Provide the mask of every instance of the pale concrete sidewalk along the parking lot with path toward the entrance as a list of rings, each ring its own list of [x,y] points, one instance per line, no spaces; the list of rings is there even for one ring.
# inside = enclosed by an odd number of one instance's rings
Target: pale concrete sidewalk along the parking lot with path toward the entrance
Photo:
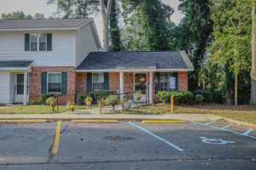
[[[99,108],[86,109],[75,112],[56,114],[1,114],[0,119],[118,119],[118,120],[183,120],[183,121],[214,121],[223,118],[211,114],[165,114],[165,115],[130,115],[130,114],[106,114],[111,108],[103,108],[100,114]]]

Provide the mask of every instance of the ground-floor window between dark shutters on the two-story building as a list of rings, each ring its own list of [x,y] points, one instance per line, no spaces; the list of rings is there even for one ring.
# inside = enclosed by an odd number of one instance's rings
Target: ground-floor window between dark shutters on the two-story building
[[[61,93],[61,73],[48,74],[48,93]]]

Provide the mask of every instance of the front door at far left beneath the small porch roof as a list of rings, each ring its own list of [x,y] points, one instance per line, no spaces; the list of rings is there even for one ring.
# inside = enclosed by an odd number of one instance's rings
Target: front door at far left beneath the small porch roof
[[[27,93],[28,93],[28,89],[27,89]],[[15,103],[23,102],[23,94],[24,94],[24,74],[16,74]],[[26,99],[28,102],[28,96]]]

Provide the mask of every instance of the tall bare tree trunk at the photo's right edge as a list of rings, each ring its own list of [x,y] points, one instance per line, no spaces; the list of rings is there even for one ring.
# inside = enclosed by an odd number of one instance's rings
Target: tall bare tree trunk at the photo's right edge
[[[256,4],[253,3],[252,10],[252,18],[253,18],[253,26],[252,26],[252,71],[251,71],[251,80],[252,80],[252,88],[251,88],[251,105],[256,105]]]

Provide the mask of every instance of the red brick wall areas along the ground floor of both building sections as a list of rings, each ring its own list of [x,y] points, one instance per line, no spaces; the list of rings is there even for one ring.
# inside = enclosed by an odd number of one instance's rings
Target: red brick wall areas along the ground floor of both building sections
[[[87,92],[87,74],[75,72],[74,67],[33,67],[32,72],[29,74],[29,96],[31,99],[38,99],[42,96],[41,94],[41,72],[63,72],[67,71],[67,96],[60,98],[61,104],[67,103],[67,101],[75,101],[74,94],[85,94]],[[149,73],[147,73],[149,77]],[[155,79],[155,73],[153,73]],[[134,88],[134,73],[124,73],[124,89],[125,93],[133,92]],[[187,91],[188,90],[188,72],[178,72],[178,89]],[[117,91],[119,93],[119,72],[109,73],[109,90]],[[149,89],[149,82],[148,82]],[[128,94],[129,98],[132,99],[132,93]],[[149,96],[149,90],[148,90]],[[155,83],[153,86],[153,97],[155,99]],[[149,101],[149,99],[148,99]]]

